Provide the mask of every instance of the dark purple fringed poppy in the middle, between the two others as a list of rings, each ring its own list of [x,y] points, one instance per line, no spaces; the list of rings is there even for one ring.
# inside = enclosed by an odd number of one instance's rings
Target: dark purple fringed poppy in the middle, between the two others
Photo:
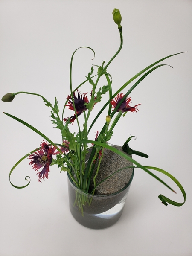
[[[80,93],[77,90],[77,94],[78,94],[78,96],[76,97],[76,94],[73,92],[73,99],[74,99],[77,116],[80,116],[83,113],[83,111],[87,110],[84,103],[89,103],[89,101],[87,99],[87,93],[83,93],[80,96]],[[72,99],[71,96],[68,96],[67,99],[69,100],[68,104],[66,104],[67,108],[74,110],[73,101],[71,100]],[[70,122],[73,123],[76,119],[76,115],[74,114],[74,116],[64,118],[64,122],[67,122],[68,119],[70,119]]]

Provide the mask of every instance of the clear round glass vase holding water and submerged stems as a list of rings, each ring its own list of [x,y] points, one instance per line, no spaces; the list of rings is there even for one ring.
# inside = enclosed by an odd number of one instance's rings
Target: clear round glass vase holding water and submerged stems
[[[73,217],[84,227],[103,229],[112,226],[122,215],[134,170],[128,184],[111,195],[91,195],[81,191],[68,175],[69,205]]]

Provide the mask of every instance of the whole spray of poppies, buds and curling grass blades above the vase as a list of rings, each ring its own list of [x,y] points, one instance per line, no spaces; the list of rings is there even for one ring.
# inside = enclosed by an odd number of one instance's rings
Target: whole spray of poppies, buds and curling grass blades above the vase
[[[162,201],[162,203],[165,205],[169,203],[175,206],[181,206],[186,201],[186,193],[183,187],[181,186],[181,184],[179,183],[179,181],[175,177],[173,177],[171,174],[164,171],[163,169],[160,169],[157,167],[151,167],[151,166],[143,166],[130,156],[130,155],[136,154],[141,157],[148,158],[148,155],[142,152],[133,150],[129,147],[128,143],[134,136],[130,136],[125,141],[124,145],[122,146],[122,150],[124,152],[119,151],[118,149],[108,145],[108,142],[110,141],[111,136],[113,135],[113,129],[115,128],[119,119],[122,116],[125,117],[125,115],[128,112],[136,113],[139,109],[140,104],[132,105],[131,97],[129,97],[130,93],[134,90],[134,88],[152,71],[156,70],[161,66],[166,65],[166,64],[159,64],[161,61],[165,60],[166,58],[170,58],[174,55],[180,54],[182,52],[169,55],[165,58],[160,59],[159,61],[156,61],[155,63],[151,64],[150,66],[146,67],[145,69],[137,73],[134,77],[132,77],[124,85],[122,85],[122,87],[120,87],[119,90],[113,93],[112,92],[112,76],[107,72],[107,68],[111,64],[113,59],[119,54],[123,44],[122,26],[121,26],[122,17],[118,9],[113,10],[113,20],[118,25],[118,30],[120,35],[120,47],[118,51],[115,53],[115,55],[113,55],[113,57],[111,58],[110,61],[108,61],[107,64],[105,63],[105,61],[103,61],[102,65],[100,66],[93,65],[94,68],[96,67],[97,73],[94,74],[94,69],[92,66],[90,72],[86,76],[86,80],[84,80],[81,84],[79,84],[78,87],[74,89],[72,87],[72,63],[73,63],[74,54],[80,48],[90,49],[93,52],[94,56],[95,56],[95,52],[90,47],[80,47],[76,49],[75,52],[73,52],[73,55],[71,57],[71,62],[70,62],[70,95],[67,96],[67,100],[64,104],[64,108],[61,116],[59,115],[60,113],[59,113],[58,101],[56,97],[55,97],[55,102],[52,105],[49,101],[47,101],[47,99],[45,99],[43,96],[37,93],[29,93],[29,92],[21,91],[17,93],[7,93],[5,96],[3,96],[2,101],[4,102],[12,102],[15,96],[20,93],[26,93],[26,94],[31,94],[31,95],[41,97],[45,105],[51,109],[50,112],[51,112],[52,124],[55,125],[55,128],[61,131],[61,137],[62,137],[60,144],[54,143],[52,142],[52,140],[50,140],[47,136],[41,133],[41,131],[38,131],[32,125],[17,118],[16,116],[12,116],[9,113],[5,113],[7,116],[10,116],[11,118],[22,123],[23,125],[26,125],[27,127],[35,131],[44,139],[41,141],[39,148],[36,148],[33,151],[31,151],[29,154],[26,154],[15,164],[15,166],[13,166],[13,168],[9,173],[9,180],[15,167],[22,160],[28,157],[30,160],[29,165],[31,165],[32,168],[37,172],[39,182],[41,182],[45,178],[48,179],[51,166],[56,164],[61,169],[61,171],[68,172],[71,180],[73,181],[73,183],[77,188],[81,189],[82,192],[86,192],[91,195],[94,195],[95,189],[98,186],[98,184],[96,183],[96,176],[99,173],[99,166],[104,156],[105,148],[107,148],[113,151],[114,153],[119,154],[119,156],[122,156],[125,159],[129,160],[132,163],[132,166],[128,166],[128,167],[143,169],[145,172],[152,175],[155,179],[159,180],[161,183],[163,183],[165,186],[167,186],[169,189],[175,192],[170,186],[168,186],[159,177],[154,175],[154,173],[152,173],[150,170],[153,169],[157,172],[161,172],[164,175],[170,177],[177,184],[177,186],[180,188],[181,192],[183,193],[184,202],[178,203],[178,202],[172,201],[171,199],[165,197],[164,195],[159,195],[159,198]],[[107,81],[107,85],[104,85],[98,89],[99,79],[102,76],[105,77]],[[126,87],[138,77],[140,78],[124,94],[122,90],[125,90]],[[81,86],[85,83],[90,83],[92,87],[90,95],[88,95],[88,92],[85,92],[85,93],[80,92]],[[93,110],[93,108],[99,108],[99,102],[101,102],[102,96],[106,93],[108,93],[109,95],[108,101],[99,110],[98,114],[93,119],[93,122],[88,127],[87,124],[90,118],[90,114],[92,113],[91,111]],[[70,117],[64,116],[65,108],[68,108],[71,111],[73,111],[73,114]],[[106,110],[106,108],[108,109]],[[100,132],[96,131],[96,137],[90,140],[88,138],[90,130],[93,128],[93,125],[97,122],[97,119],[99,118],[99,116],[103,111],[105,111],[106,113],[106,120],[105,120],[106,122],[104,123],[103,128]],[[79,119],[84,119],[84,124],[82,125],[82,127],[80,125]],[[78,127],[78,131],[77,133],[71,133],[70,126],[74,125],[75,123]],[[86,155],[88,151],[90,151],[90,157],[88,160],[86,160]],[[96,169],[96,174],[93,177],[93,170],[95,168],[96,162],[98,163],[98,167]],[[116,170],[116,172],[119,172],[120,170],[122,169]],[[94,181],[94,188],[91,189],[90,191],[90,180],[92,178]],[[108,178],[109,177],[105,178],[104,180],[102,180],[102,182],[107,180]],[[28,181],[28,183],[25,186],[20,186],[20,187],[15,186],[11,182],[11,180],[10,180],[10,183],[15,188],[25,188],[30,183],[30,177],[26,176],[25,179]]]

